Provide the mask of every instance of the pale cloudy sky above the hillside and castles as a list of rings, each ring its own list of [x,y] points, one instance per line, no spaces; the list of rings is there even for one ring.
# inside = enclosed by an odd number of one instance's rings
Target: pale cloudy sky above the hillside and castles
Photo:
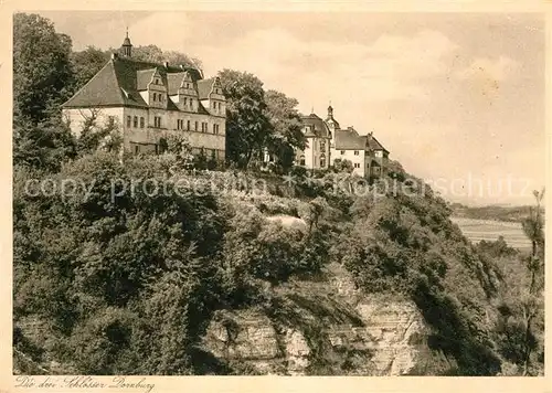
[[[128,25],[134,45],[201,59],[209,76],[247,71],[302,113],[331,100],[341,127],[373,131],[450,201],[531,203],[545,183],[542,15],[40,13],[75,50],[118,47]]]

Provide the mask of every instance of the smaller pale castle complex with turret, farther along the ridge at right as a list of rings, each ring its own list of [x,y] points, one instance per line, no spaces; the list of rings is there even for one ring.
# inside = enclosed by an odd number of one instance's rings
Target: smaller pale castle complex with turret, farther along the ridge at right
[[[389,150],[372,132],[361,136],[353,127],[341,129],[331,105],[326,120],[311,113],[302,117],[302,123],[307,147],[297,151],[296,164],[327,169],[339,159],[351,161],[353,173],[361,177],[379,178],[385,173]]]

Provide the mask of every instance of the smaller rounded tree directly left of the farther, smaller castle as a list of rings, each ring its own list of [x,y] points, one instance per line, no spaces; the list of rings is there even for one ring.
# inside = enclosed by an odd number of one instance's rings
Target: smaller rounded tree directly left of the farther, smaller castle
[[[301,117],[297,111],[297,99],[284,93],[265,93],[266,116],[273,134],[267,140],[268,152],[276,156],[284,171],[288,171],[295,161],[295,149],[304,150],[305,135],[301,131]]]

